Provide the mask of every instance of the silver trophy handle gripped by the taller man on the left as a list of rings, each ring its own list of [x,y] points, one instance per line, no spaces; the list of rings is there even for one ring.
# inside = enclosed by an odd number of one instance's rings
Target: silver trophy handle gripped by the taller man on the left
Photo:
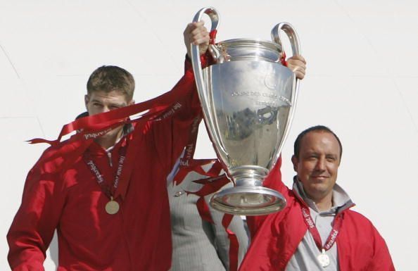
[[[210,27],[210,44],[215,43],[215,34],[217,31],[217,25],[219,24],[219,15],[215,8],[206,7],[202,8],[193,18],[193,23],[196,23],[202,19],[203,14],[207,14],[212,22],[212,26]],[[208,89],[206,89],[205,82],[203,80],[203,72],[202,72],[202,63],[201,63],[201,56],[199,52],[199,46],[190,44],[191,45],[191,64],[193,67],[194,78],[196,80],[196,87],[198,90],[199,100],[201,101],[201,107],[203,111],[203,116],[205,117],[206,125],[208,125],[208,131],[210,138],[213,140],[213,144],[217,146],[218,151],[222,151],[224,155],[227,152],[224,150],[220,138],[217,136],[215,129],[211,129],[210,127],[214,127],[214,120],[213,115],[210,113],[212,111],[211,103],[210,103],[210,96],[208,94]],[[215,149],[216,150],[216,149]]]

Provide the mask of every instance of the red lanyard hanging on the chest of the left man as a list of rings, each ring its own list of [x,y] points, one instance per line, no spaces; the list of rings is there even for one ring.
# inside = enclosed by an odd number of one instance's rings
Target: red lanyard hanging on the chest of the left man
[[[119,149],[118,168],[116,169],[115,179],[113,180],[113,185],[111,187],[109,187],[108,184],[105,182],[103,175],[101,175],[99,168],[97,168],[96,164],[93,162],[91,157],[87,154],[83,156],[84,162],[87,164],[94,177],[96,177],[96,181],[101,187],[101,191],[103,191],[103,193],[106,194],[106,196],[108,196],[109,198],[113,198],[113,195],[115,194],[115,191],[118,188],[120,176],[122,175],[122,169],[125,165],[126,152],[127,143],[125,139],[125,141],[122,142],[122,146],[120,146]]]

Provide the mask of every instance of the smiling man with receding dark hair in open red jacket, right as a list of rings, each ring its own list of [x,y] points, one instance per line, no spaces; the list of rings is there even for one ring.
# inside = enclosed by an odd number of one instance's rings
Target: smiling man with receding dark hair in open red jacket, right
[[[293,189],[279,165],[265,184],[286,197],[279,213],[255,218],[253,243],[241,271],[393,271],[384,239],[336,184],[341,141],[328,127],[299,134],[292,156]]]

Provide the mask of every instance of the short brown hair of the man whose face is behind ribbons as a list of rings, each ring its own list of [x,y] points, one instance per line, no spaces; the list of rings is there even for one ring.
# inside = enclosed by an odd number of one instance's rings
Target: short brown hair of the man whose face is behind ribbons
[[[91,92],[122,92],[127,101],[134,96],[134,77],[118,66],[101,66],[91,73],[87,81],[87,94]]]

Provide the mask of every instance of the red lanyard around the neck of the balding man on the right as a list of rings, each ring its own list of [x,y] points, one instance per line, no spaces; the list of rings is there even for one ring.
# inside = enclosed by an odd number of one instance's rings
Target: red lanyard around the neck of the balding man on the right
[[[308,225],[309,232],[310,234],[312,234],[315,244],[317,244],[317,247],[319,248],[319,251],[322,251],[322,249],[324,249],[325,251],[329,250],[329,248],[331,248],[331,246],[334,245],[338,232],[340,232],[342,225],[341,215],[336,215],[336,217],[334,218],[331,232],[329,233],[329,236],[324,246],[322,246],[321,236],[319,235],[317,226],[315,225],[315,222],[312,220],[312,217],[310,216],[309,208],[302,206],[302,215],[306,225]]]

